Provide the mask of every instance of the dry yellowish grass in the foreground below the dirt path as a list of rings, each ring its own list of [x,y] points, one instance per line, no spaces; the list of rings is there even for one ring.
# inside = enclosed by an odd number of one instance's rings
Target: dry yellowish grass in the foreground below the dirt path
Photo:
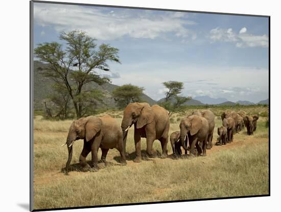
[[[158,159],[35,184],[36,209],[268,194],[268,147]],[[74,175],[71,173],[71,175]]]

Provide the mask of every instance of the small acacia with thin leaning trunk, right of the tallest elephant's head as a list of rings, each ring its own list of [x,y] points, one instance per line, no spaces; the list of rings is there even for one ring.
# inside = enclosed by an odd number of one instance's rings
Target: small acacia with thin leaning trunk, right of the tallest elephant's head
[[[163,85],[167,88],[165,92],[165,101],[161,103],[161,106],[169,111],[169,116],[174,112],[184,109],[184,104],[188,102],[191,97],[181,97],[179,94],[183,89],[183,83],[177,81],[163,82]]]

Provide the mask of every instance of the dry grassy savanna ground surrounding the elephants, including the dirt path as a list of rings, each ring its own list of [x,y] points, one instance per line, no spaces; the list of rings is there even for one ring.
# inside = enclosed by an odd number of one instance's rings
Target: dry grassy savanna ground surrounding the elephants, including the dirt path
[[[179,130],[184,114],[198,107],[190,107],[185,113],[171,117],[170,133]],[[199,108],[199,109],[202,109]],[[217,127],[222,125],[220,114],[226,109],[244,110],[247,114],[260,114],[254,135],[246,135],[246,129],[234,135],[234,141],[225,146],[213,146],[206,157],[194,159],[146,158],[134,163],[133,127],[129,130],[127,166],[120,166],[120,154],[109,150],[107,166],[99,163],[98,172],[69,172],[61,169],[67,160],[65,143],[72,120],[48,121],[42,116],[34,117],[34,208],[59,208],[189,200],[201,198],[266,195],[269,191],[268,158],[269,139],[266,122],[267,106],[210,107],[216,115],[213,144],[216,143]],[[122,121],[122,111],[110,110],[110,114]],[[72,164],[79,162],[83,141],[74,144]],[[160,142],[155,140],[154,149],[161,152]],[[142,149],[146,140],[142,138]],[[168,155],[172,154],[170,139]],[[101,151],[99,151],[99,158]],[[89,154],[88,160],[91,159]]]

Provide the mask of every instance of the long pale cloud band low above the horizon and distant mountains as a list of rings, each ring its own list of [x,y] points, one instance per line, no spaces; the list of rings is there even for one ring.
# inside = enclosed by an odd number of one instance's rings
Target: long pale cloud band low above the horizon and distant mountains
[[[268,98],[268,69],[265,68],[239,66],[208,66],[206,68],[204,65],[161,61],[156,66],[150,62],[124,63],[119,73],[121,78],[112,79],[113,84],[131,83],[144,87],[149,97],[154,100],[165,97],[164,92],[167,89],[162,82],[170,80],[184,82],[182,95],[186,97],[209,96],[226,98],[235,102],[238,100],[259,102]],[[255,80],[249,80],[253,76]]]

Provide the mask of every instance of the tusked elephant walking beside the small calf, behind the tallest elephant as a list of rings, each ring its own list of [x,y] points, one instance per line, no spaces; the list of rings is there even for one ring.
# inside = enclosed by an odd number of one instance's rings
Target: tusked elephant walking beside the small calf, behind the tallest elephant
[[[203,156],[206,156],[206,146],[209,134],[208,121],[199,115],[190,115],[184,117],[180,124],[180,142],[184,150],[187,150],[185,144],[186,135],[188,135],[190,144],[190,156],[194,156],[194,147],[197,148],[197,155],[201,154],[201,148],[198,142],[202,142]]]

